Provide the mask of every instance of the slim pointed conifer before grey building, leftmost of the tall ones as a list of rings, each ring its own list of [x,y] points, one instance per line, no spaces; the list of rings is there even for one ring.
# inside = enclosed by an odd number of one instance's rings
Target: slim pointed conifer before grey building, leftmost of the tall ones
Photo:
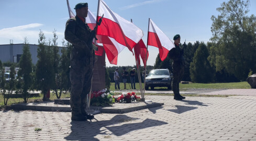
[[[20,81],[21,95],[23,95],[24,102],[27,103],[29,98],[29,89],[34,83],[32,80],[32,57],[29,51],[29,44],[27,38],[24,39],[23,54],[19,61],[18,81]]]

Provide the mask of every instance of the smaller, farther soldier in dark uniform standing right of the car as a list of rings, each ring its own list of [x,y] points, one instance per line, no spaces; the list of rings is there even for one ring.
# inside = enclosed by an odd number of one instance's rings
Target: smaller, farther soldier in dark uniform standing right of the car
[[[173,84],[172,89],[174,93],[175,100],[182,100],[185,97],[180,95],[179,84],[184,75],[184,58],[183,58],[183,50],[180,48],[181,36],[176,34],[173,37],[175,48],[172,48],[169,51],[168,56],[173,60],[172,68],[173,68]]]

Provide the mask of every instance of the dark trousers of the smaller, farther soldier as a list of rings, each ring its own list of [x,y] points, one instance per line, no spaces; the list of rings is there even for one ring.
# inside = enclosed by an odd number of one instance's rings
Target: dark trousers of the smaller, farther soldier
[[[180,95],[180,82],[184,75],[184,65],[173,63],[173,83],[172,83],[172,90],[174,96]]]

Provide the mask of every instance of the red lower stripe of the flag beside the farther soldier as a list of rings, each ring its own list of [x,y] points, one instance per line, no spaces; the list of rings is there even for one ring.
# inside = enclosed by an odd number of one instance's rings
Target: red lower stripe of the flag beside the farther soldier
[[[161,61],[165,60],[165,58],[168,55],[169,50],[165,49],[162,46],[157,33],[148,32],[148,45],[157,47],[159,49],[159,56],[160,56]]]

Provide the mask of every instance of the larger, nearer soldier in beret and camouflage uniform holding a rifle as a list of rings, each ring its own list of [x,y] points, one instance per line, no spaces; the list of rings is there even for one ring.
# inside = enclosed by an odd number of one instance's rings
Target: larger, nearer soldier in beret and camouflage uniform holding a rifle
[[[94,115],[86,113],[85,109],[86,97],[90,93],[92,85],[95,60],[92,40],[95,37],[95,32],[85,23],[88,4],[79,3],[74,9],[76,16],[66,21],[65,29],[65,39],[73,45],[70,54],[71,120],[86,121],[94,118]]]

